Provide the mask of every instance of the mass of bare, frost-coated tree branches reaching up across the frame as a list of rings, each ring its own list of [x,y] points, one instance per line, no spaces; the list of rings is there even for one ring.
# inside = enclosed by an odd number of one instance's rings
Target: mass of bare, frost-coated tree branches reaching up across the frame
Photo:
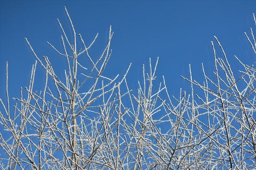
[[[106,48],[94,60],[90,48],[97,35],[89,46],[85,45],[68,13],[67,17],[73,30],[72,39],[58,20],[63,31],[63,50],[48,42],[67,60],[65,77],[57,75],[48,57],[41,60],[26,39],[36,62],[29,86],[21,88],[13,110],[7,63],[7,102],[0,99],[2,169],[252,170],[256,167],[253,66],[243,64],[235,56],[243,70],[233,73],[215,37],[223,59],[216,57],[211,42],[214,78],[204,72],[202,65],[204,81],[199,83],[193,80],[190,69],[190,77],[182,78],[191,84],[191,91],[181,89],[179,97],[171,96],[164,77],[155,84],[157,58],[155,66],[149,60],[149,71],[143,66],[143,79],[138,81],[137,92],[132,91],[126,79],[130,66],[121,77],[104,76],[111,55],[111,26]],[[254,21],[256,24],[255,17]],[[245,35],[256,54],[252,29],[251,38]],[[79,41],[83,46],[78,45]],[[34,90],[38,62],[45,70],[41,91]]]

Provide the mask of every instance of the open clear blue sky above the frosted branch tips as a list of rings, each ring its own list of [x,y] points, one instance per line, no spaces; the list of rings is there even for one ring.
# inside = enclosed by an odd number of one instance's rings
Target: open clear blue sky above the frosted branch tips
[[[56,60],[57,54],[46,41],[61,47],[56,18],[65,25],[67,33],[71,33],[64,6],[76,33],[81,33],[86,44],[99,33],[95,48],[98,54],[106,45],[112,25],[113,52],[106,74],[122,75],[132,62],[128,75],[130,84],[134,83],[132,88],[137,88],[142,64],[148,64],[149,57],[155,62],[159,56],[158,79],[160,81],[164,75],[170,95],[177,96],[180,87],[189,86],[180,78],[180,75],[188,76],[189,64],[195,79],[203,78],[201,63],[208,73],[214,71],[211,49],[214,35],[222,43],[231,64],[234,55],[246,64],[255,62],[244,35],[244,32],[249,33],[250,27],[255,29],[252,17],[252,13],[256,13],[255,0],[0,0],[0,88],[5,86],[8,61],[10,97],[19,97],[20,86],[28,86],[35,62],[25,37],[38,57],[45,55]],[[40,73],[37,76],[40,77]],[[5,97],[4,94],[1,90],[0,97]]]

